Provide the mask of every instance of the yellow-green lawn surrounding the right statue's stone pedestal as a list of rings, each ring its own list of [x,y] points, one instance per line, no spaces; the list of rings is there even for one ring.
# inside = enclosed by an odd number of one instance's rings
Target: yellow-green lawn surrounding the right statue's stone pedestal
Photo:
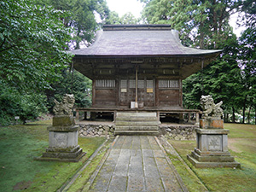
[[[195,141],[168,141],[210,191],[256,191],[256,125],[225,124],[224,128],[230,130],[230,154],[241,163],[241,169],[196,169],[186,158],[196,147]],[[196,184],[189,187],[188,173],[184,175],[178,168],[177,172],[189,191],[201,191],[195,189]]]

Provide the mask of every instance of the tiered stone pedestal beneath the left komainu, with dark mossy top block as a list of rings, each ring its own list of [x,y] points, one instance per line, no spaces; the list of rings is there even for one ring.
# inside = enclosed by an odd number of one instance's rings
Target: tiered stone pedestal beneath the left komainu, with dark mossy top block
[[[49,148],[38,160],[78,162],[84,152],[78,145],[79,125],[71,116],[55,116],[49,126]]]

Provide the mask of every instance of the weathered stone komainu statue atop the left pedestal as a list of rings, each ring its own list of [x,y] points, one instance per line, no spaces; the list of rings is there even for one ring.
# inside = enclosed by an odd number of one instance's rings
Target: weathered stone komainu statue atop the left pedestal
[[[72,108],[73,104],[75,102],[73,94],[65,94],[62,98],[62,102],[55,102],[55,107],[53,108],[53,111],[55,115],[69,115],[73,116]]]

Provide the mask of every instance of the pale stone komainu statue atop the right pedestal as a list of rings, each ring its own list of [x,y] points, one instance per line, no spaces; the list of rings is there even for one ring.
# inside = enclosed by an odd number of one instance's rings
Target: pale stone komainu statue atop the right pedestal
[[[221,119],[223,115],[223,109],[220,108],[223,102],[214,104],[212,96],[201,96],[200,104],[203,109],[202,118],[214,117]]]

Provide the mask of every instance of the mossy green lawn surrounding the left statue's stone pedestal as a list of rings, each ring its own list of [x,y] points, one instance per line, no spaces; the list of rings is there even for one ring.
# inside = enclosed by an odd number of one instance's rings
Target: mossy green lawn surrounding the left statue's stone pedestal
[[[49,125],[51,120],[0,128],[0,191],[55,191],[106,139],[79,138],[87,154],[78,163],[35,161],[48,147]]]

